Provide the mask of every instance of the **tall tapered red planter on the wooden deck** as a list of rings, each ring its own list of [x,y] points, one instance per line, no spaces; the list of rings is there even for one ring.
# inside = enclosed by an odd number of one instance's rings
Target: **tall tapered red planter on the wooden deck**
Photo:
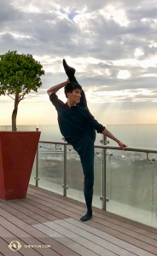
[[[26,197],[40,131],[0,131],[0,198]]]

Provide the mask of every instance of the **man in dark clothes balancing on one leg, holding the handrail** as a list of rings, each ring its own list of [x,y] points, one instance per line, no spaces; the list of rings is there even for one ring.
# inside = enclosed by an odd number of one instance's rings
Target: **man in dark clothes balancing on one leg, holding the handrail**
[[[47,90],[49,99],[58,113],[58,123],[61,134],[72,144],[78,152],[84,172],[84,198],[87,206],[86,214],[80,218],[87,221],[92,217],[92,198],[94,185],[94,143],[96,131],[106,137],[110,137],[119,147],[125,150],[126,145],[121,143],[105,126],[99,124],[87,108],[84,90],[74,77],[75,69],[69,67],[63,60],[63,66],[67,73],[67,81],[52,86]],[[61,102],[55,93],[64,87],[67,103]]]

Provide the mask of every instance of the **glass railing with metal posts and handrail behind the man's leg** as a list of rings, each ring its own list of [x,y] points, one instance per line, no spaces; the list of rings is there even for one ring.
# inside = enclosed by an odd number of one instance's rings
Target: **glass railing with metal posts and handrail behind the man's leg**
[[[127,147],[123,151],[95,145],[93,206],[157,228],[156,154],[157,149]],[[41,141],[37,166],[32,177],[38,187],[84,202],[82,166],[71,145]]]

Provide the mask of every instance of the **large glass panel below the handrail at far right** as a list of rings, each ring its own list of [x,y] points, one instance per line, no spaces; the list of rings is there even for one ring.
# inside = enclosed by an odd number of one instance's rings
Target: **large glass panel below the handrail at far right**
[[[157,162],[147,154],[108,150],[107,211],[157,228]],[[157,159],[157,155],[149,157]]]

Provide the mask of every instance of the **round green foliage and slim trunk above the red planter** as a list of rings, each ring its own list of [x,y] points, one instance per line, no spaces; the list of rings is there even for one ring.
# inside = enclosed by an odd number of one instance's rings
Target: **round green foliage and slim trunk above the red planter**
[[[16,125],[18,104],[31,91],[42,86],[40,77],[44,75],[43,66],[32,55],[9,51],[0,55],[0,96],[7,95],[15,100],[12,126]],[[14,124],[13,124],[14,122]],[[15,131],[15,128],[13,129]]]

